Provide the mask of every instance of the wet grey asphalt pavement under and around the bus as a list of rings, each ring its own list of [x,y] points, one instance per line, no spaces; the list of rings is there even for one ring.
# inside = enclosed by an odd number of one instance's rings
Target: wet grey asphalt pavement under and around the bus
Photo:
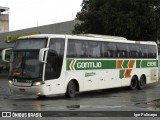
[[[160,99],[160,82],[147,85],[143,90],[116,88],[80,93],[73,99],[67,99],[63,95],[38,99],[37,96],[11,95],[7,78],[0,78],[0,111],[159,111],[159,108],[150,105],[151,101],[156,99]],[[92,116],[89,112],[87,114]],[[95,114],[93,113],[93,116]],[[58,117],[57,119],[70,120],[71,118]],[[88,118],[78,117],[78,120],[83,119],[88,120]],[[94,119],[96,120],[97,117],[92,118]],[[99,119],[106,120],[104,117]]]

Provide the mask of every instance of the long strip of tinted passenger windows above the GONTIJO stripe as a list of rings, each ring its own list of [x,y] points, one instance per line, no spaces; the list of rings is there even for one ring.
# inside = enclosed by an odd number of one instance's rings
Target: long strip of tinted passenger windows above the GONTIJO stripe
[[[156,47],[143,44],[68,40],[67,57],[156,58]]]

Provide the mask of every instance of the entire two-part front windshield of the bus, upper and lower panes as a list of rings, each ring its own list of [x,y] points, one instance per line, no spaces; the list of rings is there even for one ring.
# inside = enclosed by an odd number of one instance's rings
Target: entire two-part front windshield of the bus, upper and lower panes
[[[39,50],[46,46],[46,39],[18,40],[13,49],[10,76],[35,79],[42,77],[43,64],[39,62]]]

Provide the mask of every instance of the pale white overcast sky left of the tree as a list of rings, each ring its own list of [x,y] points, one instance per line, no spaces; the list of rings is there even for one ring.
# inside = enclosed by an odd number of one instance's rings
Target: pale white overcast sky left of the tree
[[[15,31],[73,20],[83,0],[0,0],[9,8],[9,30]]]

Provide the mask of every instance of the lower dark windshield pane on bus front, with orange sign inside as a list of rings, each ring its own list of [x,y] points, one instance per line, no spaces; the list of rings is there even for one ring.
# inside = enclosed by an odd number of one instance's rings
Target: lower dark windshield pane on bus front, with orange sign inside
[[[42,77],[43,64],[38,61],[39,50],[14,51],[11,76],[15,78]]]

